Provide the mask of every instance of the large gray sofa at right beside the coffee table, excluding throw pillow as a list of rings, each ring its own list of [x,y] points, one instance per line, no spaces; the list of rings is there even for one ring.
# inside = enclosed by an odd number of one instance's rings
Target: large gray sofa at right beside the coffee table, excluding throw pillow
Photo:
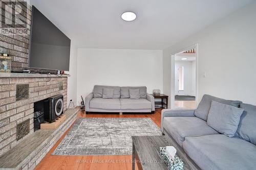
[[[208,126],[212,101],[244,109],[233,137]],[[161,130],[201,169],[256,169],[256,106],[205,94],[196,110],[162,110]]]

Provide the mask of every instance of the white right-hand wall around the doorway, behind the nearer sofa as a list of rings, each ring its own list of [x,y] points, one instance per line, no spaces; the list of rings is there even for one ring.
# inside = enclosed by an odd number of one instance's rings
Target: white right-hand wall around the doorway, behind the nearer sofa
[[[198,43],[198,93],[256,105],[256,3],[163,51],[163,92],[170,95],[170,54]],[[206,72],[206,78],[202,77]]]

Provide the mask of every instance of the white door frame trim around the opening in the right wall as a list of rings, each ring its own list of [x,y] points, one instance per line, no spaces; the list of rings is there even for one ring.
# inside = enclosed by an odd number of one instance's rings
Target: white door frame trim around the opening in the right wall
[[[171,54],[170,59],[170,108],[174,109],[175,106],[175,55],[182,53],[191,48],[195,47],[196,49],[196,104],[198,105],[198,43],[190,45],[189,47],[184,48],[176,53]]]

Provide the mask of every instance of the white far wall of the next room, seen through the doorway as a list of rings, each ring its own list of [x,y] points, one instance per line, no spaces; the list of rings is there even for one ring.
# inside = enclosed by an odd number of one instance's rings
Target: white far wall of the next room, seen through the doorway
[[[175,95],[194,95],[196,91],[196,63],[195,61],[175,61]],[[179,91],[179,84],[178,84],[178,67],[183,66],[183,78],[184,78],[184,90]],[[195,72],[193,72],[195,71]],[[194,80],[193,80],[194,79]],[[179,92],[178,92],[179,91]]]

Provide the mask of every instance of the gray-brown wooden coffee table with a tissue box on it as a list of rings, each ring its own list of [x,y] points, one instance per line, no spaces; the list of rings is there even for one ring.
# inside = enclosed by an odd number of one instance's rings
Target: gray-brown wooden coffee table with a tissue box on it
[[[159,147],[174,146],[177,150],[177,156],[184,163],[184,170],[200,169],[193,160],[191,160],[183,149],[167,136],[132,136],[133,139],[133,170],[135,162],[139,169],[158,170],[168,169],[160,156]]]

